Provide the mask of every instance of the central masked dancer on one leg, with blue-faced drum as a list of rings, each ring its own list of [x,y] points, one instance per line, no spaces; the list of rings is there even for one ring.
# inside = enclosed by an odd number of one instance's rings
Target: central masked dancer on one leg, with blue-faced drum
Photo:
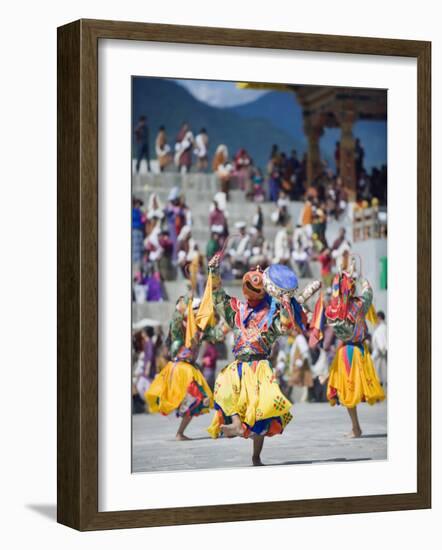
[[[204,297],[211,296],[217,313],[233,331],[235,360],[216,379],[216,411],[208,432],[213,438],[221,433],[252,437],[252,463],[262,466],[264,437],[282,433],[292,419],[292,403],[282,394],[269,362],[272,344],[289,330],[304,331],[306,316],[294,298],[297,279],[289,268],[272,265],[265,273],[259,267],[248,271],[242,286],[245,301],[241,301],[221,286],[220,257],[218,253],[209,262]],[[274,297],[277,292],[269,294],[272,289],[281,291],[279,300]]]

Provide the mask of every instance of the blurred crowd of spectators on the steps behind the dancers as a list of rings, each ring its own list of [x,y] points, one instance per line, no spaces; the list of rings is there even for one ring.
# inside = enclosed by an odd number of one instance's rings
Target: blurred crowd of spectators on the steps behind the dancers
[[[143,156],[149,157],[145,125],[146,121],[140,119],[136,128],[136,139],[140,140],[136,170],[139,170]],[[185,123],[174,148],[168,144],[166,130],[161,127],[155,141],[155,151],[161,171],[173,166],[183,174],[190,170],[212,170],[217,176],[219,188],[207,204],[207,242],[201,242],[201,231],[198,232],[199,239],[194,237],[193,232],[201,228],[194,227],[192,205],[186,203],[180,188],[172,188],[164,202],[155,192],[148,195],[147,203],[134,196],[132,295],[136,303],[169,300],[167,281],[174,280],[181,280],[183,289],[187,285],[194,296],[201,296],[207,261],[220,250],[224,253],[221,275],[227,283],[240,280],[246,271],[256,265],[265,268],[271,263],[282,263],[291,267],[299,278],[317,277],[319,272],[327,300],[341,256],[351,250],[351,242],[358,239],[356,234],[347,235],[343,226],[348,226],[349,220],[359,220],[361,212],[368,212],[369,209],[377,216],[378,209],[387,199],[386,167],[373,169],[368,174],[359,142],[355,158],[356,201],[351,203],[338,170],[333,171],[326,164],[318,177],[307,186],[306,156],[299,159],[295,150],[286,155],[276,145],[273,146],[268,164],[261,170],[254,165],[246,149],[239,149],[230,158],[227,147],[220,144],[209,162],[207,131],[202,128],[194,136],[189,124]],[[338,161],[339,155],[337,166]],[[249,218],[238,217],[235,210],[232,220],[229,212],[232,189],[242,190],[244,200],[255,203]],[[301,202],[302,208],[299,205],[295,208],[293,201],[297,205]],[[264,208],[263,203],[272,204],[270,216],[269,207]],[[247,211],[250,212],[250,208]],[[327,239],[330,220],[338,224],[342,222],[331,242]],[[366,234],[365,226],[361,232],[359,238],[374,236]],[[383,313],[379,315],[383,321]],[[315,349],[309,348],[305,336],[295,334],[282,338],[275,346],[273,363],[281,387],[288,396],[294,398],[295,392],[298,401],[325,400],[328,368],[337,345],[332,332],[327,329],[323,346]],[[381,350],[378,343],[381,341],[386,348],[383,333],[379,333],[373,348],[378,346],[380,361],[384,361],[381,363],[386,369],[386,351]],[[225,349],[223,344],[204,343],[202,346],[199,362],[210,385],[215,379],[217,360],[223,357]],[[161,326],[144,326],[135,331],[133,353],[134,409],[144,410],[141,396],[155,373],[169,359]],[[383,376],[386,383],[386,374]]]

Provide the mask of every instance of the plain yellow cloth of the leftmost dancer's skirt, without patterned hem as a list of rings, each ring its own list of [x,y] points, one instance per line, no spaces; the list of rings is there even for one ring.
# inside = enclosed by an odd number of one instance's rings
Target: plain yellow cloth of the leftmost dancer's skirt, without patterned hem
[[[210,404],[201,411],[209,412],[213,407],[213,396],[202,373],[185,361],[170,361],[155,376],[154,381],[145,393],[146,403],[151,413],[170,414],[178,409],[186,398],[189,385],[195,381],[203,388],[210,399]]]

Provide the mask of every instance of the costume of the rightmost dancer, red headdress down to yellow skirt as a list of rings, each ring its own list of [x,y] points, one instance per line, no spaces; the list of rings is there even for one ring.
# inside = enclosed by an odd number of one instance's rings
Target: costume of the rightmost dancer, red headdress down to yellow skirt
[[[347,408],[361,401],[373,405],[385,398],[368,347],[366,317],[373,318],[373,291],[362,279],[362,294],[353,296],[355,283],[347,274],[336,275],[326,322],[341,340],[330,366],[327,398],[331,405],[341,403]]]

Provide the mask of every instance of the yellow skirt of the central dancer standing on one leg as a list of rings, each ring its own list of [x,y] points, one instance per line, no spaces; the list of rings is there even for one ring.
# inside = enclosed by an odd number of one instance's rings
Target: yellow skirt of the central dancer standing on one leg
[[[243,424],[243,437],[282,433],[293,418],[292,403],[282,394],[267,360],[234,361],[224,367],[215,382],[214,400],[216,412],[207,430],[213,438],[234,414]]]

